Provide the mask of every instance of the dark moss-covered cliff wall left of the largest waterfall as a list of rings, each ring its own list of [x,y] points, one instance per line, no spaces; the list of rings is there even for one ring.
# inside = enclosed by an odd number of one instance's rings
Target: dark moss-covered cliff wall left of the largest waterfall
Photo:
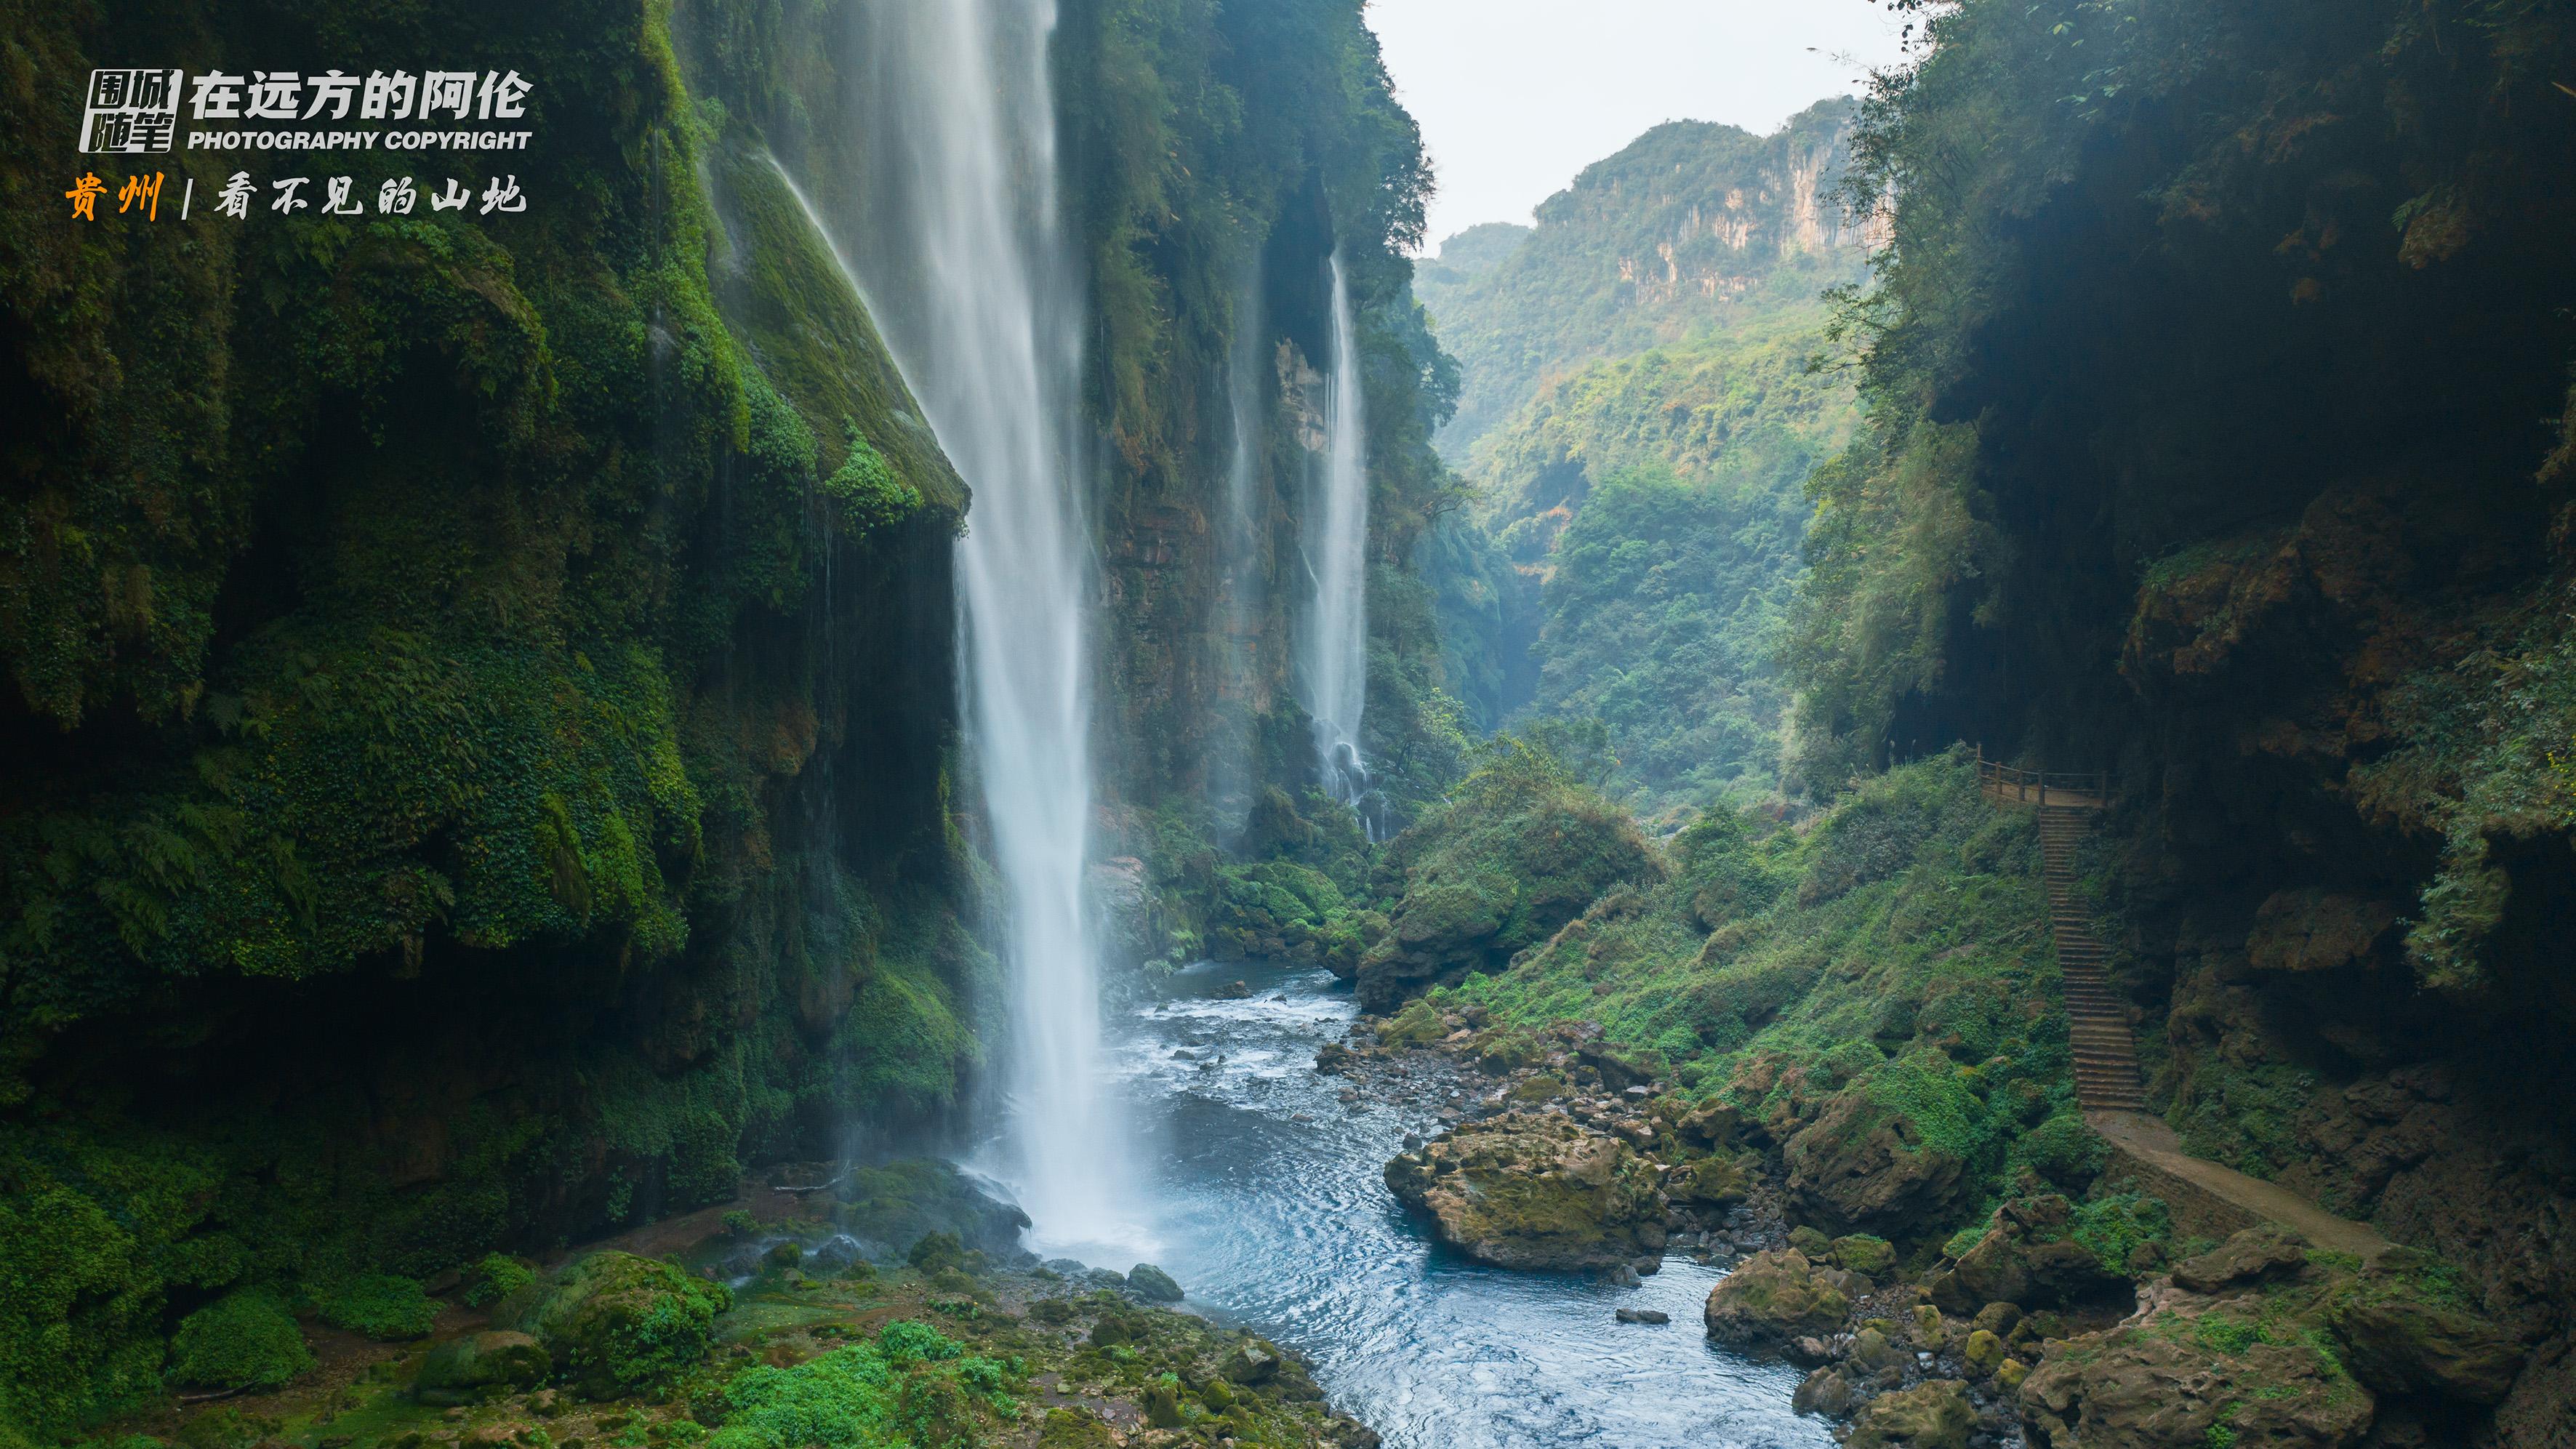
[[[0,1423],[157,1392],[234,1284],[438,1274],[935,1127],[989,973],[966,494],[659,8],[0,31]],[[157,224],[72,224],[93,64],[518,69],[536,142],[180,152]],[[484,170],[526,214],[265,208]]]

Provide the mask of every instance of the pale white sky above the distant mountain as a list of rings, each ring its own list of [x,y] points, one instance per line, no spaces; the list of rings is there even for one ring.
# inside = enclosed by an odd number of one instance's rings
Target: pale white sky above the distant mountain
[[[1368,0],[1440,193],[1427,247],[1528,221],[1662,121],[1772,131],[1896,59],[1870,0]]]

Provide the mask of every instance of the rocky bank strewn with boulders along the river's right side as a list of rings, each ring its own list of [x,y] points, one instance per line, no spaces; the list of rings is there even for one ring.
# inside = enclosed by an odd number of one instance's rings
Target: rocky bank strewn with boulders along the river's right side
[[[1795,1410],[1855,1449],[2465,1444],[2524,1359],[2409,1248],[2360,1261],[2275,1225],[2174,1243],[2050,1192],[1940,1243],[1829,1235],[1911,1192],[1886,1181],[1893,1153],[1775,1143],[1582,1024],[1510,1032],[1414,1001],[1316,1071],[1458,1084],[1463,1109],[1386,1181],[1476,1261],[1628,1284],[1674,1251],[1723,1266],[1708,1338],[1801,1369]]]

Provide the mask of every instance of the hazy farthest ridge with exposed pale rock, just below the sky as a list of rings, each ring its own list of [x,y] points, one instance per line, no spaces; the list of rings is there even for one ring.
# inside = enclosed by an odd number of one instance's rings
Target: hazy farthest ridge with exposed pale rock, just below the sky
[[[1672,121],[1584,167],[1538,226],[1450,237],[1417,278],[1463,373],[1440,448],[1458,466],[1571,363],[1641,353],[1801,306],[1865,265],[1834,198],[1855,106],[1824,100],[1770,136]]]

